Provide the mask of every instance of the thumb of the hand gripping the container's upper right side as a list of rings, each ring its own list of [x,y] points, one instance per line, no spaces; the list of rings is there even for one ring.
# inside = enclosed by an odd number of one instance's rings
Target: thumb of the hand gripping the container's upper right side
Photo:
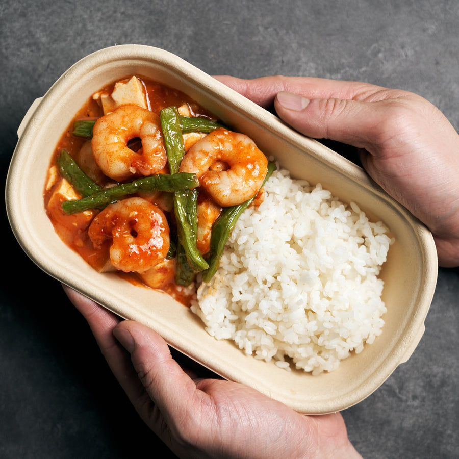
[[[330,139],[366,148],[373,144],[380,114],[375,105],[339,98],[307,99],[291,92],[279,92],[274,101],[277,115],[298,132],[316,139]]]

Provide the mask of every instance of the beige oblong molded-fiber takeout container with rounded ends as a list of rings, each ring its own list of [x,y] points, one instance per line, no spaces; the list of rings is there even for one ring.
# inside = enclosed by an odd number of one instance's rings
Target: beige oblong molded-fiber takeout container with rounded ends
[[[286,371],[247,356],[232,341],[209,336],[191,311],[167,294],[98,273],[56,235],[43,207],[46,171],[74,114],[95,91],[126,76],[144,75],[182,90],[234,130],[274,155],[294,177],[321,183],[343,201],[353,200],[390,228],[395,243],[381,277],[388,312],[382,334],[331,373]],[[304,137],[188,62],[164,50],[120,45],[70,67],[25,115],[8,173],[6,202],[13,232],[41,269],[119,316],[156,330],[169,345],[219,375],[258,389],[301,413],[324,414],[360,402],[413,353],[423,331],[437,280],[429,231],[378,188],[355,164]],[[20,192],[17,192],[20,190]]]

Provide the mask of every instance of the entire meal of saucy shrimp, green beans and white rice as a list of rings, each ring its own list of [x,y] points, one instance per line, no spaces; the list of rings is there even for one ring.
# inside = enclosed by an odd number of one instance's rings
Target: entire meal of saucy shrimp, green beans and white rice
[[[44,204],[95,270],[168,293],[280,368],[333,371],[384,325],[388,228],[163,84],[134,75],[88,100]]]

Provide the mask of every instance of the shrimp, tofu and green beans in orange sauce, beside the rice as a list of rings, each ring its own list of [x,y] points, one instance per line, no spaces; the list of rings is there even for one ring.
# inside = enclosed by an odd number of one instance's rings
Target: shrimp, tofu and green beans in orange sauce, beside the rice
[[[180,91],[137,75],[95,93],[56,147],[44,205],[99,272],[184,304],[209,281],[273,165]]]

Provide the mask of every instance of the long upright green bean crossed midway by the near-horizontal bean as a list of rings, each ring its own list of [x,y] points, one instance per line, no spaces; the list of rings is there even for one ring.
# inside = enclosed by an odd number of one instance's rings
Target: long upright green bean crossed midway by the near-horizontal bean
[[[176,107],[167,107],[161,110],[160,118],[169,169],[174,173],[179,170],[180,162],[185,154],[179,111]],[[179,245],[183,247],[190,267],[198,272],[207,269],[208,264],[196,246],[196,212],[197,190],[174,193],[174,215]]]

